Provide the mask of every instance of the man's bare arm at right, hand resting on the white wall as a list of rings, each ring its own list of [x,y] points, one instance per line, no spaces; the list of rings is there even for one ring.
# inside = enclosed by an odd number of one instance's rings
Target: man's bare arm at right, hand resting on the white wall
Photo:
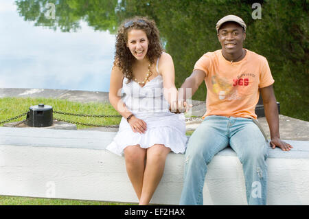
[[[282,150],[290,150],[293,147],[280,139],[279,113],[275,93],[273,92],[273,85],[261,88],[260,93],[263,99],[266,120],[271,132],[271,147],[274,149],[277,146]]]

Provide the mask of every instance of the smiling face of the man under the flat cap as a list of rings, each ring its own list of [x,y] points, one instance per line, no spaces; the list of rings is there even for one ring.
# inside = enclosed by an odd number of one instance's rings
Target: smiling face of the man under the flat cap
[[[218,32],[217,36],[222,51],[227,54],[234,54],[242,49],[242,42],[246,38],[246,33],[238,23],[223,23]]]

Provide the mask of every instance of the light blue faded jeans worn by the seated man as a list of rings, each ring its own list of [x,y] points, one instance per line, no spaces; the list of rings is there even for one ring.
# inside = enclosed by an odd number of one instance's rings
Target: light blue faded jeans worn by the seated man
[[[185,174],[180,205],[203,205],[207,164],[231,146],[244,172],[249,205],[266,205],[267,143],[251,119],[211,115],[193,132],[185,152]]]

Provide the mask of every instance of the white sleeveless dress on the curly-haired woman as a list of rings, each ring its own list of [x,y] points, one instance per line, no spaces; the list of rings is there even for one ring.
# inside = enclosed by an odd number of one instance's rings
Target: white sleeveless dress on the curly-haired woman
[[[123,156],[127,146],[138,144],[141,148],[150,148],[155,144],[163,144],[172,152],[185,152],[185,116],[183,113],[169,111],[168,102],[163,97],[162,76],[153,78],[144,87],[137,82],[127,81],[124,78],[122,91],[125,96],[122,100],[135,117],[146,122],[147,130],[145,133],[133,132],[130,124],[122,117],[119,131],[106,149]]]

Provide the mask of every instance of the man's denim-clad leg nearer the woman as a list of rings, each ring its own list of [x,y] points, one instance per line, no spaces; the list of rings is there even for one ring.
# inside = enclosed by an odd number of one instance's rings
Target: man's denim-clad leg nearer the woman
[[[227,117],[209,116],[196,128],[187,143],[180,205],[203,205],[207,164],[227,147]]]

